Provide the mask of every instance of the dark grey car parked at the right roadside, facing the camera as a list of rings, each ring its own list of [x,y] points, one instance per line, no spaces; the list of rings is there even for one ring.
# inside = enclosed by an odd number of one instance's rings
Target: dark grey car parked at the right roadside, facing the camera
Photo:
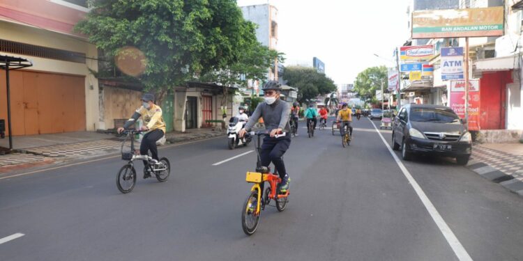
[[[455,157],[457,164],[466,165],[472,151],[466,124],[447,106],[407,104],[394,119],[393,150],[401,148],[404,160],[416,152]]]

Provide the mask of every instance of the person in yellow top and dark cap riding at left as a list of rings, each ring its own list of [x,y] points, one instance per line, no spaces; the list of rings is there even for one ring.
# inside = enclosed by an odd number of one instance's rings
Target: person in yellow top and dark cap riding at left
[[[144,125],[140,130],[145,131],[146,134],[142,138],[142,144],[140,144],[140,154],[147,155],[147,152],[151,150],[153,159],[159,161],[158,148],[156,148],[156,141],[162,139],[165,135],[165,121],[162,118],[162,109],[160,106],[154,104],[154,95],[152,93],[144,93],[142,95],[142,106],[140,106],[135,113],[132,114],[131,118],[126,121],[123,127],[118,128],[118,133],[123,132],[124,129],[129,129],[135,125],[136,120],[140,117],[144,120]],[[144,165],[147,165],[147,161],[144,160]],[[149,168],[144,168],[149,170]],[[151,173],[146,171],[144,178],[151,177]]]

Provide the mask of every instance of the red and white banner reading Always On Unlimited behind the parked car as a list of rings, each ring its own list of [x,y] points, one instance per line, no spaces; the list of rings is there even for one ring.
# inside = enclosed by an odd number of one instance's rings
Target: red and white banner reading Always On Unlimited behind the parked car
[[[450,108],[465,118],[465,81],[450,81]],[[480,122],[480,84],[479,80],[469,80],[469,130],[479,130]]]

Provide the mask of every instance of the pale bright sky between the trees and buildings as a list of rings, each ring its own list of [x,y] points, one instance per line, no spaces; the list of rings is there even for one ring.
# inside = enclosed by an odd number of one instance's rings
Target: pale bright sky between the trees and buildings
[[[312,66],[316,56],[335,84],[352,84],[365,68],[392,63],[409,38],[407,0],[237,0],[278,8],[278,51],[285,66]],[[383,58],[374,56],[378,54]],[[388,60],[388,61],[387,61]]]

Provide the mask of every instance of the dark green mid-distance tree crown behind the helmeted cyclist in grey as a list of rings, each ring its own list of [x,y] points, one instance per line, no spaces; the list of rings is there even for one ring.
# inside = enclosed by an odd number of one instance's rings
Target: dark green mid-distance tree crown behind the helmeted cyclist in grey
[[[314,68],[289,66],[285,68],[282,77],[287,84],[298,88],[297,100],[300,103],[310,103],[318,95],[325,95],[336,90],[334,81]]]

